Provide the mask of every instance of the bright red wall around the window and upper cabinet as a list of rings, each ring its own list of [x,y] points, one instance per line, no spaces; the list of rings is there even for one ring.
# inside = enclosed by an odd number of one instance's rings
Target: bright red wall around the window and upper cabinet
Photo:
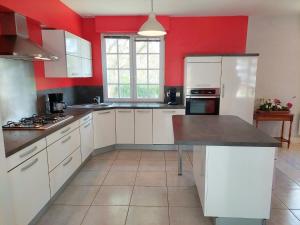
[[[135,33],[145,16],[99,16],[82,19],[59,0],[0,0],[0,5],[41,24],[64,29],[92,42],[93,78],[64,79],[44,77],[42,62],[34,63],[38,90],[78,85],[102,84],[100,34]],[[248,17],[167,17],[160,16],[168,34],[165,42],[165,85],[183,85],[183,58],[196,53],[244,53]],[[29,20],[30,38],[41,43],[39,23]]]

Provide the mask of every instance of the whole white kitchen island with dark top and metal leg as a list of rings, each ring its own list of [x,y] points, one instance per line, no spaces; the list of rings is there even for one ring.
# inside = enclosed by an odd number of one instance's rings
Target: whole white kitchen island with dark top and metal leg
[[[173,116],[182,145],[193,145],[193,174],[204,216],[217,225],[262,225],[270,217],[280,143],[236,116]]]

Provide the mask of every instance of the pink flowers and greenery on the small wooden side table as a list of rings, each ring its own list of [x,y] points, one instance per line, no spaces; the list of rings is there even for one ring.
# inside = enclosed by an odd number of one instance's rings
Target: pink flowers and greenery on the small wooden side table
[[[276,113],[276,114],[286,114],[289,113],[293,104],[288,102],[285,105],[282,102],[275,98],[275,99],[260,99],[260,104],[258,106],[257,112],[258,113]]]

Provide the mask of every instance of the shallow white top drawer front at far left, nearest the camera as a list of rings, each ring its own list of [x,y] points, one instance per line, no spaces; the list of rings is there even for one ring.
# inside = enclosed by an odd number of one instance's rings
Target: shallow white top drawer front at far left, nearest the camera
[[[46,148],[46,139],[43,138],[36,143],[22,149],[21,151],[11,155],[7,158],[7,171],[13,169],[14,167],[20,165],[25,160],[29,159],[33,155],[42,151]]]

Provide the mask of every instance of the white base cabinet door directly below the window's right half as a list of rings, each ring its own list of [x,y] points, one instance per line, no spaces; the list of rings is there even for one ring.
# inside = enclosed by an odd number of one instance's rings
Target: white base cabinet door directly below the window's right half
[[[135,144],[152,144],[152,109],[135,110]]]

